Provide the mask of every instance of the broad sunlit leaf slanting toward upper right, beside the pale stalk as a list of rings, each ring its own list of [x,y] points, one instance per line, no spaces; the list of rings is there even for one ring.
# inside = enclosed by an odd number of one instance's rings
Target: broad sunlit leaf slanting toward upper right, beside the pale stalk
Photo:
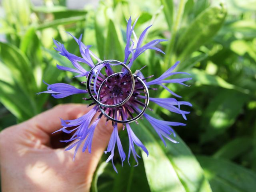
[[[178,60],[186,58],[212,38],[222,26],[225,18],[226,9],[222,4],[207,8],[199,14],[178,40]]]

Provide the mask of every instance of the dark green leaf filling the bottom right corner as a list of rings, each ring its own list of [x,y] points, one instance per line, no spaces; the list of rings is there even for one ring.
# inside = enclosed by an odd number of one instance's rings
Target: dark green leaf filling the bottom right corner
[[[197,157],[214,192],[252,192],[256,173],[227,160]]]

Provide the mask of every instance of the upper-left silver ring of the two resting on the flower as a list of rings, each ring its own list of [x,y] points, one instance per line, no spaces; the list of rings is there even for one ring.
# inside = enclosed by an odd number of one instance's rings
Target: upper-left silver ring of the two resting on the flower
[[[92,75],[92,72],[94,70],[94,68],[96,68],[96,66],[99,66],[101,64],[109,64],[111,65],[111,63],[114,63],[114,64],[120,64],[122,65],[124,68],[126,68],[126,70],[128,71],[130,77],[131,77],[131,80],[132,80],[132,88],[130,90],[130,93],[129,95],[127,96],[127,98],[125,100],[123,100],[122,102],[118,103],[118,104],[114,104],[114,105],[106,105],[106,104],[103,104],[100,102],[99,100],[99,94],[100,94],[100,90],[102,88],[102,85],[104,84],[104,82],[106,82],[106,80],[108,80],[109,77],[112,77],[114,74],[108,76],[103,82],[102,84],[100,85],[100,88],[99,88],[99,91],[98,91],[98,96],[97,96],[97,99],[92,95],[92,92],[90,90],[90,78],[91,78],[91,75]],[[120,73],[120,72],[118,72]],[[118,73],[115,73],[115,74],[118,74]],[[96,80],[96,79],[95,79]],[[94,80],[94,81],[95,81]],[[119,107],[119,106],[122,106],[124,103],[126,103],[132,96],[133,94],[133,91],[134,91],[134,87],[135,87],[135,80],[134,80],[134,76],[132,74],[132,71],[130,70],[130,68],[128,68],[128,66],[120,61],[117,61],[117,60],[104,60],[102,62],[99,62],[97,63],[89,72],[88,76],[87,76],[87,82],[86,82],[86,86],[87,86],[87,90],[88,90],[88,93],[90,95],[90,97],[92,98],[92,100],[94,100],[99,106],[103,106],[103,107],[107,107],[107,108],[115,108],[115,107]]]

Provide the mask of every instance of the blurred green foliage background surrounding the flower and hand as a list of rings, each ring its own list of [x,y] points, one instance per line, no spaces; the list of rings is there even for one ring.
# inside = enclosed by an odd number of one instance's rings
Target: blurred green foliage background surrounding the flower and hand
[[[116,156],[116,174],[103,155],[91,190],[256,191],[256,0],[2,0],[0,16],[0,130],[57,104],[83,102],[79,95],[35,94],[46,90],[42,80],[84,88],[81,78],[57,70],[56,63],[71,64],[53,49],[52,38],[79,55],[66,31],[83,33],[102,60],[123,60],[125,19],[140,16],[137,34],[153,24],[146,41],[169,41],[161,44],[166,55],[148,50],[132,70],[147,65],[144,75],[158,77],[180,60],[177,70],[192,75],[191,86],[168,87],[193,107],[183,108],[191,111],[185,122],[150,106],[154,116],[187,124],[175,128],[180,143],[165,148],[146,120],[132,124],[150,156],[123,168]],[[162,89],[150,94],[171,96]],[[128,152],[127,135],[120,135]]]

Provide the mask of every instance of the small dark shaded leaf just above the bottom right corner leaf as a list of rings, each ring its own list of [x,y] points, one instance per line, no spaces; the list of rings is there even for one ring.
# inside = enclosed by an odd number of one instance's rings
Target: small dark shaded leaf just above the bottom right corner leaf
[[[252,148],[252,138],[238,137],[222,146],[214,155],[214,158],[232,160]]]

